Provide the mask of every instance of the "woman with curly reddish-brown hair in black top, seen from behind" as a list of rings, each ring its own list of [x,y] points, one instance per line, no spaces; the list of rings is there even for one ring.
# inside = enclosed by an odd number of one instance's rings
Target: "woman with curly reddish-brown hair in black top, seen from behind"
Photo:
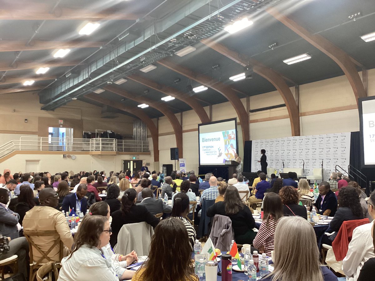
[[[300,216],[307,220],[305,206],[298,205],[300,198],[298,191],[293,186],[284,186],[279,193],[281,202],[284,204],[283,212],[287,216]]]

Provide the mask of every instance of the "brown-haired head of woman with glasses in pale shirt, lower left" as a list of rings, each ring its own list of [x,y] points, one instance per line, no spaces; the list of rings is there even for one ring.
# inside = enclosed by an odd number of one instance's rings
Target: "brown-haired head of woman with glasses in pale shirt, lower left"
[[[69,256],[69,259],[72,257],[72,254],[84,244],[90,247],[97,247],[100,244],[99,238],[104,230],[106,221],[108,221],[108,219],[101,215],[85,215],[77,233],[74,235],[75,248]]]

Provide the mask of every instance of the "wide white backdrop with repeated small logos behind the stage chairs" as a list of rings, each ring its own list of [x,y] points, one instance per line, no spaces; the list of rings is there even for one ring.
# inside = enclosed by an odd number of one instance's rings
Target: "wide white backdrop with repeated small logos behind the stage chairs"
[[[296,136],[278,139],[252,141],[251,171],[261,169],[261,149],[266,149],[268,168],[278,171],[285,168],[302,168],[305,161],[306,175],[312,175],[314,168],[320,168],[323,160],[324,179],[329,179],[339,165],[348,169],[350,160],[350,133]]]

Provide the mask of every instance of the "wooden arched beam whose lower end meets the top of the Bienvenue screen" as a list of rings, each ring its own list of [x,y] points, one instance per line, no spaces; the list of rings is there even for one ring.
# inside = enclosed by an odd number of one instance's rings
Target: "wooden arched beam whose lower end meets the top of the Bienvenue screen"
[[[204,110],[203,106],[199,104],[198,100],[196,100],[195,97],[190,97],[188,94],[180,92],[173,87],[157,84],[156,82],[148,80],[141,76],[129,75],[126,78],[145,85],[148,88],[164,93],[168,96],[175,97],[176,99],[181,100],[182,102],[189,105],[193,109],[193,111],[195,111],[202,123],[210,122],[210,118],[208,118],[207,112]]]

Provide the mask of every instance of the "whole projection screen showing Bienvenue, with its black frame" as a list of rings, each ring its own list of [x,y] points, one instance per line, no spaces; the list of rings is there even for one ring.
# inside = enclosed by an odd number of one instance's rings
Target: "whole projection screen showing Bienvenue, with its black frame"
[[[237,153],[237,118],[198,124],[199,166],[225,165]]]

